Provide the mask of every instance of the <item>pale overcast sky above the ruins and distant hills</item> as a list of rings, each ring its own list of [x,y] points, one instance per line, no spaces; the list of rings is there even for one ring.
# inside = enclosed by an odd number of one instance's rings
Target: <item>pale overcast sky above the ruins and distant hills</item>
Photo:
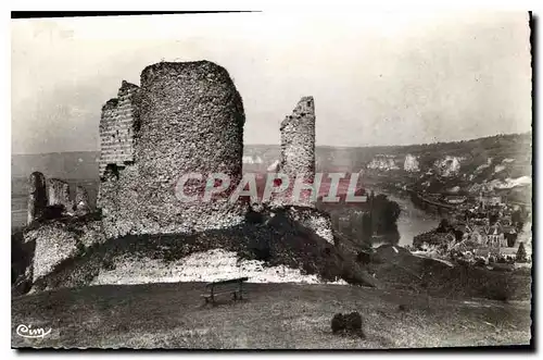
[[[243,98],[245,144],[314,96],[317,145],[531,129],[526,13],[199,14],[12,21],[12,151],[98,150],[102,104],[144,66],[210,60]]]

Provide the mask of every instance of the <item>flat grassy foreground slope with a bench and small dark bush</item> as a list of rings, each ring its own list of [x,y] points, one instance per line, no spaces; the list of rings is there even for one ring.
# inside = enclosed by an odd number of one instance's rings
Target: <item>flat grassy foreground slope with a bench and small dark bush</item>
[[[530,342],[530,303],[462,301],[341,285],[248,284],[248,300],[203,305],[202,283],[92,286],[12,299],[13,347],[420,348]],[[400,311],[403,305],[406,310]],[[332,335],[358,311],[365,339]],[[43,339],[18,324],[52,328]]]

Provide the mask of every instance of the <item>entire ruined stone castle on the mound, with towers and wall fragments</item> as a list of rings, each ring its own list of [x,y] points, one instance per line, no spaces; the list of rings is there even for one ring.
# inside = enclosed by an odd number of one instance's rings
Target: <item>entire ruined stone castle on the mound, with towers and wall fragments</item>
[[[76,257],[80,249],[106,239],[224,229],[243,225],[254,211],[266,214],[269,211],[269,219],[275,216],[278,209],[273,207],[253,209],[245,200],[229,201],[229,195],[242,179],[245,115],[241,96],[224,67],[209,61],[161,62],[147,66],[140,83],[137,86],[123,82],[117,97],[102,107],[99,211],[89,208],[84,187],[76,188],[72,200],[66,182],[46,181],[41,173],[30,175],[28,223],[41,219],[67,220],[45,222],[25,233],[25,243],[36,244],[34,281]],[[301,175],[312,183],[315,176],[312,97],[300,100],[280,131],[278,171],[292,182]],[[229,176],[226,191],[213,201],[181,201],[179,191],[184,196],[201,195],[211,173]],[[189,174],[201,177],[185,182]],[[329,216],[314,209],[311,201],[282,203],[290,204],[298,207],[286,207],[282,213],[334,244]],[[88,219],[78,218],[89,212]]]

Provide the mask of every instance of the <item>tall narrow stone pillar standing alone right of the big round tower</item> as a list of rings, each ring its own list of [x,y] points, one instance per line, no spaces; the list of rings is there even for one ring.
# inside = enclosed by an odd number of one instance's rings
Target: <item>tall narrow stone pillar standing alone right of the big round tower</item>
[[[313,97],[303,97],[281,123],[281,162],[280,172],[294,183],[296,176],[305,183],[315,178],[315,102]],[[290,196],[289,191],[289,195]],[[307,198],[310,193],[303,191],[296,204],[312,206]],[[288,201],[290,203],[294,203]]]

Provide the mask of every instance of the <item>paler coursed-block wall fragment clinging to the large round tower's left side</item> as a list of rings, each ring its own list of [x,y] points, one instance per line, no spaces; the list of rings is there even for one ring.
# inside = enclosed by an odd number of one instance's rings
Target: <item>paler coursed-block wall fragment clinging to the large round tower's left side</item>
[[[117,98],[102,107],[100,120],[100,176],[109,164],[134,162],[135,133],[139,126],[138,86],[123,80]]]

